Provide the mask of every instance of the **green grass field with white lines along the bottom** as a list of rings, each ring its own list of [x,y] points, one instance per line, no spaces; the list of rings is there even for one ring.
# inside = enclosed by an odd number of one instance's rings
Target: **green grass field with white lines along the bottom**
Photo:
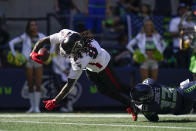
[[[125,113],[0,113],[0,131],[196,131],[196,115],[161,115],[137,122]]]

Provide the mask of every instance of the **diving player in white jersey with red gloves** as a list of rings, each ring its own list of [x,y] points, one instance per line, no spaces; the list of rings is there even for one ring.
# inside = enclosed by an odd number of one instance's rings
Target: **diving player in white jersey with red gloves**
[[[40,54],[37,52],[46,44],[57,44],[60,54],[69,57],[72,67],[68,76],[68,82],[60,93],[53,100],[44,101],[48,110],[55,108],[67,96],[83,70],[86,70],[87,77],[95,84],[100,93],[120,101],[125,106],[129,106],[130,87],[122,84],[114,75],[109,66],[110,54],[100,47],[89,31],[77,33],[63,29],[58,33],[41,39],[36,43],[30,54],[34,61],[43,63],[39,59]],[[121,93],[126,94],[127,97]],[[136,118],[133,109],[131,112],[133,118]]]

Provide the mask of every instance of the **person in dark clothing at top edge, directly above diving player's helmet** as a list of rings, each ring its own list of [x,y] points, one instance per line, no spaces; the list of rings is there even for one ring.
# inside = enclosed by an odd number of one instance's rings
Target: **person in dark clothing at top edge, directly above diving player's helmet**
[[[70,28],[72,9],[81,12],[75,0],[55,0],[55,8],[61,28]]]

